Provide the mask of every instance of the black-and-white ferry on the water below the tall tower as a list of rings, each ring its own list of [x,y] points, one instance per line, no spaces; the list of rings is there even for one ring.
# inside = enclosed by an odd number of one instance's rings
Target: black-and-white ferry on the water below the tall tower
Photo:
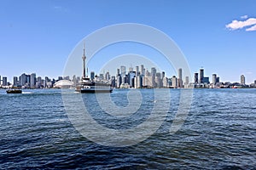
[[[105,82],[93,82],[89,78],[83,78],[79,85],[76,88],[76,91],[85,94],[85,93],[112,93],[113,88],[110,87],[110,84]]]

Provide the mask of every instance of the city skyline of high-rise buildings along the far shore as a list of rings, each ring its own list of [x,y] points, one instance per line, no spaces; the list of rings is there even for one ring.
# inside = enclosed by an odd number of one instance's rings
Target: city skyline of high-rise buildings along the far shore
[[[165,71],[157,70],[155,67],[150,69],[145,65],[136,65],[126,67],[120,65],[116,68],[115,74],[109,71],[96,73],[90,71],[86,73],[85,69],[85,56],[83,53],[83,73],[80,76],[66,75],[59,76],[57,79],[49,77],[37,77],[35,72],[31,74],[23,73],[20,77],[13,77],[13,82],[9,82],[7,77],[0,75],[1,88],[57,88],[55,82],[67,80],[73,82],[73,87],[81,81],[83,77],[89,77],[90,80],[96,82],[107,81],[113,88],[256,88],[256,80],[253,82],[246,82],[246,77],[241,75],[238,82],[222,82],[219,75],[212,73],[212,81],[209,76],[206,76],[204,68],[200,68],[198,72],[194,73],[194,77],[183,75],[183,69],[179,68],[176,75],[166,77]],[[71,83],[70,83],[71,84]],[[59,87],[60,88],[60,87]]]

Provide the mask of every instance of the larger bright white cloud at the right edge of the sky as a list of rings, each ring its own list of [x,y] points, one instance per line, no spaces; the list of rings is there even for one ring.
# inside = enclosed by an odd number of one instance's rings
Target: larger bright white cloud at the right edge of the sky
[[[247,26],[251,26],[251,27],[247,28],[246,31],[255,31],[256,18],[249,18],[244,21],[232,20],[232,22],[230,24],[226,25],[226,28],[228,28],[230,30],[237,30],[237,29],[242,29]]]

